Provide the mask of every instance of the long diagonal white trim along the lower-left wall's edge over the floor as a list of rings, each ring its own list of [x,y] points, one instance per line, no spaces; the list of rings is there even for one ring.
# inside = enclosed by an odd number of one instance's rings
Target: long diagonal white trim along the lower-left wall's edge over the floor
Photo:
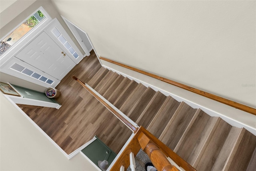
[[[51,139],[51,137],[49,137],[49,135],[47,135],[22,109],[20,109],[20,107],[18,107],[18,105],[16,105],[14,103],[14,101],[12,101],[12,99],[10,99],[9,96],[4,95],[4,97],[6,99],[8,99],[8,101],[10,101],[12,103],[12,105],[14,105],[14,107],[16,109],[18,109],[18,111],[20,111],[20,113],[22,113],[22,115],[24,115],[24,117],[26,117],[28,119],[28,121],[30,121],[30,123],[32,123],[34,125],[34,127],[36,127],[36,129],[38,129],[58,150],[60,150],[60,152],[62,154],[64,154],[69,159],[68,154],[62,148],[60,148],[60,146],[56,142],[54,142]]]

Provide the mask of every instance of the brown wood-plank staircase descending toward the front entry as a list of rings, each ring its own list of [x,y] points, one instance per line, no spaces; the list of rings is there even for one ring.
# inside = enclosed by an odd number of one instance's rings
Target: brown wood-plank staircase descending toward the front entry
[[[100,68],[88,82],[198,171],[256,171],[256,136]]]

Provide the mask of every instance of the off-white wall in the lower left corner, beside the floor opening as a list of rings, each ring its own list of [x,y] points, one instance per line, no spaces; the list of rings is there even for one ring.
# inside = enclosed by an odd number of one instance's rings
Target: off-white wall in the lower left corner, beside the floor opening
[[[1,171],[96,171],[80,153],[68,160],[0,93]]]

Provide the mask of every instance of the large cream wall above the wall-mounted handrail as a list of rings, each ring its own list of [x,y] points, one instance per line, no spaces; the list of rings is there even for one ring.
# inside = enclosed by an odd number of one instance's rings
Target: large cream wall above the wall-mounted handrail
[[[256,107],[255,1],[52,2],[99,55]]]

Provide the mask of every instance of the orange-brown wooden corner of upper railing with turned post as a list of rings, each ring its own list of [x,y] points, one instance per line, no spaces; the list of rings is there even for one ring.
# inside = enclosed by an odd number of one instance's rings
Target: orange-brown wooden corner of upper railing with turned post
[[[130,165],[130,153],[136,155],[140,149],[146,152],[150,161],[158,171],[196,171],[196,169],[174,153],[174,151],[168,148],[159,139],[154,137],[154,135],[148,132],[144,127],[140,127],[134,134],[132,140],[118,157],[114,165],[112,165],[110,171],[126,170]],[[168,160],[168,157],[176,163],[176,166]]]

